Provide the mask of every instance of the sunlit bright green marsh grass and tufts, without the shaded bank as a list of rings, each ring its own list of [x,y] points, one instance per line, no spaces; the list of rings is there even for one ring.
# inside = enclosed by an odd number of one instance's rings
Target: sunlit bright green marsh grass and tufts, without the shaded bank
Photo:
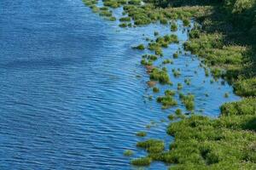
[[[92,8],[94,12],[99,12],[98,10],[102,10],[100,12],[101,16],[107,17],[109,20],[114,20],[112,13],[108,11],[108,8],[102,7],[101,9],[97,9],[96,6],[94,6],[96,1],[93,2],[95,3],[87,3],[87,5],[91,5],[90,8]],[[105,3],[105,6],[117,8],[124,5],[125,2],[126,1],[116,3],[115,1],[107,1],[107,5]],[[131,18],[138,18],[138,20],[132,22],[131,19],[128,19],[129,17],[123,18],[122,21],[128,21],[131,23],[120,24],[120,27],[148,25],[152,22],[152,20],[154,21],[154,14],[152,14],[153,16],[150,18],[150,20],[148,20],[145,16],[138,17],[138,15],[143,15],[145,12],[143,10],[146,9],[140,8],[140,3],[138,3],[140,1],[131,2],[131,6],[127,6],[125,8],[126,13],[131,14]],[[152,9],[155,7],[149,5],[147,10],[148,8]],[[189,21],[187,18],[194,16],[198,20],[201,20],[199,18],[204,17],[204,14],[207,14],[206,11],[210,10],[209,7],[204,8],[202,11],[206,10],[204,11],[205,13],[201,15],[198,14],[200,16],[196,16],[195,9],[198,8],[201,7],[167,8],[162,10],[167,11],[163,11],[164,14],[165,12],[167,13],[166,15],[169,13],[170,15],[174,15],[177,13],[177,11],[179,11],[180,14],[177,14],[179,16],[176,18],[183,18],[183,16],[186,15],[186,18],[183,19],[183,24],[185,26],[189,26]],[[157,14],[158,11],[161,11],[160,8],[156,8],[155,10],[156,11],[153,13]],[[140,13],[137,14],[137,11],[140,11]],[[191,14],[182,14],[184,11],[187,13],[190,12]],[[193,12],[195,14],[192,14]],[[201,11],[199,13],[201,13]],[[160,20],[161,24],[166,25],[168,23],[168,20],[165,17],[158,17],[159,16],[157,16],[155,20]],[[203,23],[202,27],[204,26],[205,23]],[[172,29],[175,30],[174,25],[172,26]],[[234,47],[232,45],[224,46],[223,39],[224,37],[221,34],[208,34],[202,30],[201,26],[195,26],[195,28],[190,31],[189,41],[184,44],[184,48],[199,57],[202,55],[207,56],[207,58],[204,60],[204,64],[208,66],[210,65],[210,72],[215,78],[215,80],[212,80],[212,82],[223,77],[234,85],[236,94],[246,97],[250,96],[251,94],[254,96],[255,94],[253,94],[253,92],[255,89],[250,89],[250,85],[255,82],[255,78],[252,78],[253,82],[246,79],[241,79],[236,82],[236,75],[234,77],[234,72],[232,72],[243,69],[238,67],[238,65],[241,65],[243,56],[245,53],[247,53],[247,48],[239,47],[237,45]],[[142,64],[146,66],[153,65],[153,60],[158,59],[162,55],[162,48],[168,47],[168,45],[172,42],[177,42],[176,37],[160,37],[155,42],[149,42],[148,47],[154,51],[155,54],[153,55],[155,56],[145,56],[143,58],[144,60],[142,60]],[[141,44],[137,44],[136,48],[139,50],[145,49],[145,47]],[[231,52],[233,50],[235,50],[235,54]],[[216,57],[214,58],[216,55],[223,56],[224,60],[220,60]],[[178,57],[178,53],[177,56],[173,55],[173,58],[175,57]],[[166,64],[167,63],[171,63],[171,61],[166,60]],[[206,76],[209,75],[207,67],[204,68],[206,71]],[[172,82],[170,82],[170,77],[166,75],[167,71],[165,69],[160,70],[153,68],[150,69],[149,72],[151,80],[160,82],[162,84],[172,84]],[[178,77],[179,71],[172,72]],[[235,74],[237,74],[237,72],[235,72]],[[189,83],[189,81],[187,82]],[[249,89],[247,89],[248,86]],[[180,89],[182,88],[183,87],[180,86]],[[154,90],[155,92],[158,91],[157,89]],[[164,109],[177,105],[177,101],[172,98],[172,94],[172,92],[167,91],[165,96],[161,96],[161,98],[157,99],[157,101],[163,105]],[[183,104],[188,105],[186,108],[193,111],[193,108],[195,107],[193,106],[195,105],[194,97],[191,94],[179,95],[180,99],[183,101]],[[228,97],[229,94],[225,95]],[[175,164],[175,166],[170,167],[171,169],[218,169],[223,167],[229,168],[231,165],[235,166],[236,168],[253,169],[256,162],[253,155],[253,150],[255,148],[253,141],[256,140],[256,134],[253,132],[255,131],[254,124],[256,118],[255,101],[256,99],[254,97],[250,97],[248,99],[242,99],[238,102],[224,104],[221,106],[220,116],[216,119],[211,119],[207,116],[198,116],[192,112],[190,112],[189,115],[186,115],[177,110],[174,116],[168,116],[171,123],[167,128],[167,133],[175,137],[174,142],[170,145],[170,150],[164,151],[163,141],[158,139],[148,139],[137,144],[137,147],[143,148],[148,152],[148,156],[132,160],[131,163],[137,166],[148,166],[151,161],[164,161],[166,163]],[[178,122],[172,122],[173,120],[178,120]],[[181,129],[183,130],[181,131]]]

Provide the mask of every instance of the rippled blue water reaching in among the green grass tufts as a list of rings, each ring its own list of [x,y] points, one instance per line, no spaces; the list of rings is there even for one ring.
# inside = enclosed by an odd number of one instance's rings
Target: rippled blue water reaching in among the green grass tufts
[[[81,0],[1,0],[0,16],[1,169],[133,169],[123,152],[145,154],[135,147],[142,140],[137,131],[172,141],[162,121],[177,108],[162,111],[148,100],[143,52],[131,49],[154,31],[170,33],[168,26],[121,29]],[[166,49],[165,58],[187,39],[182,30],[177,35],[181,43]],[[227,84],[211,84],[199,64],[192,55],[175,59],[168,66],[171,88],[190,77],[183,92],[195,94],[195,110],[218,116],[219,105],[238,97]],[[172,68],[182,76],[174,78]]]

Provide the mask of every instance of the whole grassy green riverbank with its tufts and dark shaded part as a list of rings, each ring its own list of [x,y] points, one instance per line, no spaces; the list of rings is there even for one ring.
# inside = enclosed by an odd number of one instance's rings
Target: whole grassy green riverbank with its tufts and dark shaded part
[[[172,4],[176,8],[156,8],[157,5],[166,6],[166,4],[146,3],[142,6],[140,1],[131,1],[128,4],[105,1],[104,4],[111,8],[125,5],[125,18],[120,19],[121,27],[142,26],[157,21],[168,25],[170,20],[177,19],[183,20],[183,26],[186,27],[190,24],[189,19],[195,18],[201,25],[195,25],[193,30],[189,31],[190,39],[189,42],[184,43],[184,49],[203,59],[202,63],[211,69],[211,75],[214,77],[212,81],[224,78],[234,86],[236,94],[247,99],[224,104],[221,107],[221,116],[212,119],[194,113],[194,97],[191,94],[179,93],[183,104],[188,105],[186,108],[191,112],[185,115],[177,110],[174,116],[169,116],[171,123],[167,133],[175,137],[174,142],[170,144],[170,150],[164,150],[162,141],[149,139],[137,144],[138,147],[147,150],[148,156],[133,160],[131,163],[145,166],[154,160],[174,164],[171,169],[230,169],[231,166],[232,169],[254,169],[256,163],[256,79],[252,34],[254,27],[253,25],[236,27],[234,23],[238,19],[247,19],[245,21],[249,23],[254,17],[249,11],[253,11],[255,3],[225,1],[221,5],[208,3],[188,7],[183,5],[189,4],[182,2]],[[96,1],[90,2],[87,5],[90,5],[95,12],[101,11],[100,14],[107,16],[108,19],[114,19],[109,8],[96,9],[96,6],[93,6],[96,3]],[[197,5],[196,1],[193,5]],[[176,30],[175,23],[171,25],[172,30]],[[157,33],[155,35],[157,36]],[[142,64],[148,69],[151,82],[172,85],[165,67],[156,68],[153,62],[162,55],[162,48],[177,42],[177,38],[163,36],[148,41],[147,47],[137,44],[137,48],[141,50],[148,48],[156,56],[144,56],[142,60]],[[177,51],[173,58],[178,57],[179,53]],[[171,63],[166,61],[169,62]],[[206,76],[209,75],[207,66],[204,66]],[[179,71],[173,71],[173,74],[178,77]],[[183,87],[180,85],[177,88]],[[155,89],[155,92],[157,91]],[[164,96],[157,99],[163,109],[177,105],[172,95],[172,92],[167,91]]]

